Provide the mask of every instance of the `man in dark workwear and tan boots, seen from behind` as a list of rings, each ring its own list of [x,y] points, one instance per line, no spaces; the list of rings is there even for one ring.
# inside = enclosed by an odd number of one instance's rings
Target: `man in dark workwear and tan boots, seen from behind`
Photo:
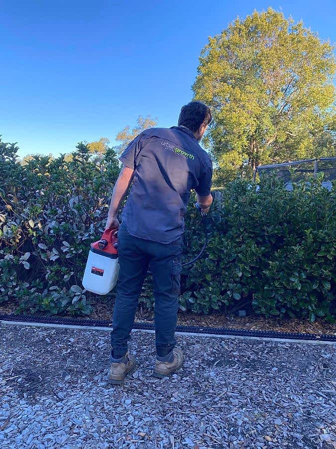
[[[138,298],[148,267],[155,298],[156,361],[153,375],[164,377],[184,361],[175,346],[180,292],[184,215],[191,189],[202,212],[212,204],[212,162],[199,142],[212,120],[208,106],[183,106],[178,126],[151,128],[139,134],[120,156],[123,164],[114,186],[106,228],[118,229],[119,280],[113,309],[109,381],[123,382],[135,367],[127,352]],[[119,225],[117,212],[131,190]]]

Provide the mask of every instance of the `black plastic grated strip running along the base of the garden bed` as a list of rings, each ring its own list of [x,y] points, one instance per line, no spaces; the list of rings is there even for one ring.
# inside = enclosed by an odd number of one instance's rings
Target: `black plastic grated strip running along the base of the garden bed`
[[[108,320],[92,320],[43,315],[0,314],[0,321],[16,321],[22,323],[58,324],[65,326],[111,327]],[[151,323],[134,323],[135,330],[154,330]],[[246,329],[230,329],[223,327],[177,326],[177,332],[186,334],[232,335],[237,337],[277,338],[284,340],[331,341],[336,342],[336,335],[305,334],[297,332],[255,331]]]

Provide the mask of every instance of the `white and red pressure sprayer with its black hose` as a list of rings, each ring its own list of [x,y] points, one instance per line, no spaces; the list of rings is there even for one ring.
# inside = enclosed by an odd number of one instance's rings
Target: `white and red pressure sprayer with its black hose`
[[[208,244],[207,215],[202,212],[198,203],[195,203],[195,207],[202,216],[205,241],[198,256],[189,262],[183,263],[182,266],[196,262]],[[116,246],[116,229],[106,229],[100,240],[91,243],[82,282],[86,290],[99,295],[106,295],[115,286],[119,273],[118,250]]]

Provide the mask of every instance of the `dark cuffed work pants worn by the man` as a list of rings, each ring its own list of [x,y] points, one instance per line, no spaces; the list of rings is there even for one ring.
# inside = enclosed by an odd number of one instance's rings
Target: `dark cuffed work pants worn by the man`
[[[175,346],[179,308],[182,238],[164,244],[118,230],[119,279],[113,309],[112,358],[127,352],[142,283],[150,267],[154,282],[156,354],[166,357]]]

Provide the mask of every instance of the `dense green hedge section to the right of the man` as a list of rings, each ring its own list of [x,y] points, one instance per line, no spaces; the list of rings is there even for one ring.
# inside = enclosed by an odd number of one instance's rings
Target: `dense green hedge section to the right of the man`
[[[292,192],[275,178],[262,179],[258,191],[245,180],[229,184],[223,209],[212,213],[206,258],[186,272],[182,308],[333,320],[336,190],[322,179],[294,182]],[[192,245],[202,238],[186,236]]]

